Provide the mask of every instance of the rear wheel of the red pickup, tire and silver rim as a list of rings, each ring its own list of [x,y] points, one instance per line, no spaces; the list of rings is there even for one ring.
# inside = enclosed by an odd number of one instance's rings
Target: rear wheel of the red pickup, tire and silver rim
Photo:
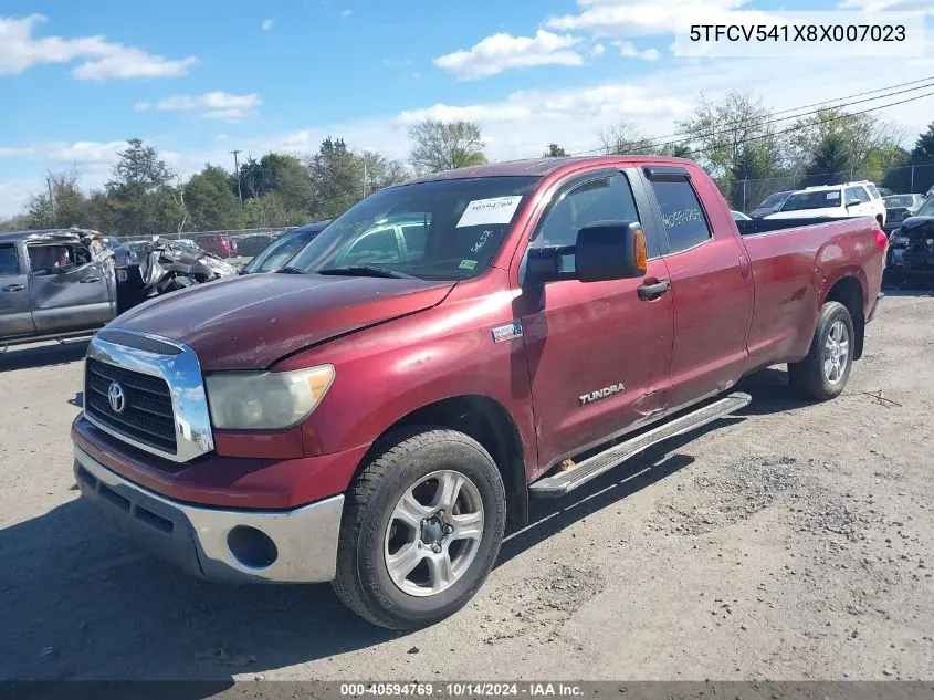
[[[823,304],[807,356],[788,363],[788,380],[795,393],[818,401],[840,396],[853,366],[854,343],[853,320],[847,307],[840,302]]]

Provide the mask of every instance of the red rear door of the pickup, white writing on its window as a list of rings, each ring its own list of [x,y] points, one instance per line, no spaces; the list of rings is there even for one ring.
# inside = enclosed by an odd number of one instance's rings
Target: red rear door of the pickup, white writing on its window
[[[746,362],[753,310],[749,260],[710,178],[681,167],[643,169],[667,239],[674,303],[671,406],[731,387]],[[717,202],[705,209],[702,201]]]

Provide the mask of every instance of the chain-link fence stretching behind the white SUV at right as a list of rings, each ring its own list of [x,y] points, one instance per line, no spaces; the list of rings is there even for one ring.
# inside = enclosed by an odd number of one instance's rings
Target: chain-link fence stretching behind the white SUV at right
[[[748,213],[758,207],[766,197],[775,192],[804,189],[815,185],[840,185],[857,180],[870,180],[877,187],[890,189],[895,195],[925,195],[934,187],[934,164],[884,170],[853,168],[840,173],[789,174],[779,177],[732,180],[727,184],[721,182],[721,190],[730,201],[731,208]],[[884,194],[888,195],[889,192]]]

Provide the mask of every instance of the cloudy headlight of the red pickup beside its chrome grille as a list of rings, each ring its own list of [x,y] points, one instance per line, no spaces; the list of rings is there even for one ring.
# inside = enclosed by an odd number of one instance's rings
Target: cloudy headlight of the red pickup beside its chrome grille
[[[231,430],[294,426],[315,409],[333,382],[333,365],[204,377],[211,422],[214,428]]]

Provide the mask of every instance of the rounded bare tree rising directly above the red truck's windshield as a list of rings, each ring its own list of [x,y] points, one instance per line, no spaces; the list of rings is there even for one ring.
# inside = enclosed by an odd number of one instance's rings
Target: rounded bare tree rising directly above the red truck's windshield
[[[480,127],[472,122],[428,119],[409,127],[417,173],[438,173],[486,163]]]

